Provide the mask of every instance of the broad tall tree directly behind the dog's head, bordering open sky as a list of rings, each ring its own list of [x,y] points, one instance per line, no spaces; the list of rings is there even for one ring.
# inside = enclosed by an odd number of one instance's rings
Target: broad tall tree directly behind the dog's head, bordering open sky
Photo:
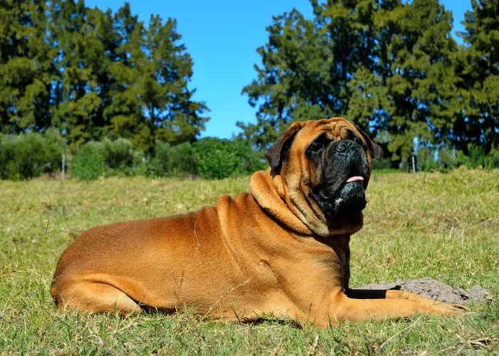
[[[293,10],[274,18],[269,42],[257,49],[262,67],[243,88],[259,105],[257,124],[238,126],[264,149],[296,120],[348,116],[376,135],[386,128],[386,77],[379,67],[381,39],[376,14],[400,1],[311,1],[314,19]],[[371,85],[374,85],[371,88]],[[373,91],[371,93],[371,91]]]

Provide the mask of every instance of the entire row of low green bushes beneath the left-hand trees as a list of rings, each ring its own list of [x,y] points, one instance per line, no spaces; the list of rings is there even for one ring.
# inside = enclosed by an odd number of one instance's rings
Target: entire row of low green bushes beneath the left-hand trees
[[[64,140],[56,130],[19,135],[0,134],[0,179],[30,179],[62,170]],[[65,155],[69,177],[201,177],[222,179],[264,169],[259,152],[244,140],[206,137],[196,142],[170,145],[156,141],[151,152],[135,150],[130,140],[88,141]]]

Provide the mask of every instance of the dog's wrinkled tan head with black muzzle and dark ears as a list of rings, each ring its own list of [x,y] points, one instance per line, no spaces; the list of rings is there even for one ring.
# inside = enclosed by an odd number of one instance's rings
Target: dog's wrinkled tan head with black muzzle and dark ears
[[[383,150],[359,127],[340,117],[295,122],[266,156],[279,195],[309,229],[331,235],[361,228],[371,157],[381,159]]]

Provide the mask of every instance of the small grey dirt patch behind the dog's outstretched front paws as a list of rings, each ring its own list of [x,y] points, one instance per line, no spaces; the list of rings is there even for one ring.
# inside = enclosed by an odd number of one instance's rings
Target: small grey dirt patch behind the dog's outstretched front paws
[[[468,304],[471,302],[482,302],[485,299],[491,298],[490,291],[476,285],[468,290],[461,288],[452,288],[451,286],[436,281],[429,277],[421,279],[413,279],[410,281],[396,281],[393,283],[378,283],[362,286],[360,289],[401,289],[409,292],[418,293],[419,295],[452,304]]]

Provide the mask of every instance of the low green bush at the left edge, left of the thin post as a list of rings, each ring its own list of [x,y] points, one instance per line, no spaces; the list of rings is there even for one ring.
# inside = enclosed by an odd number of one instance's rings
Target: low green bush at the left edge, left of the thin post
[[[0,135],[0,178],[29,179],[60,170],[63,145],[56,130]]]

